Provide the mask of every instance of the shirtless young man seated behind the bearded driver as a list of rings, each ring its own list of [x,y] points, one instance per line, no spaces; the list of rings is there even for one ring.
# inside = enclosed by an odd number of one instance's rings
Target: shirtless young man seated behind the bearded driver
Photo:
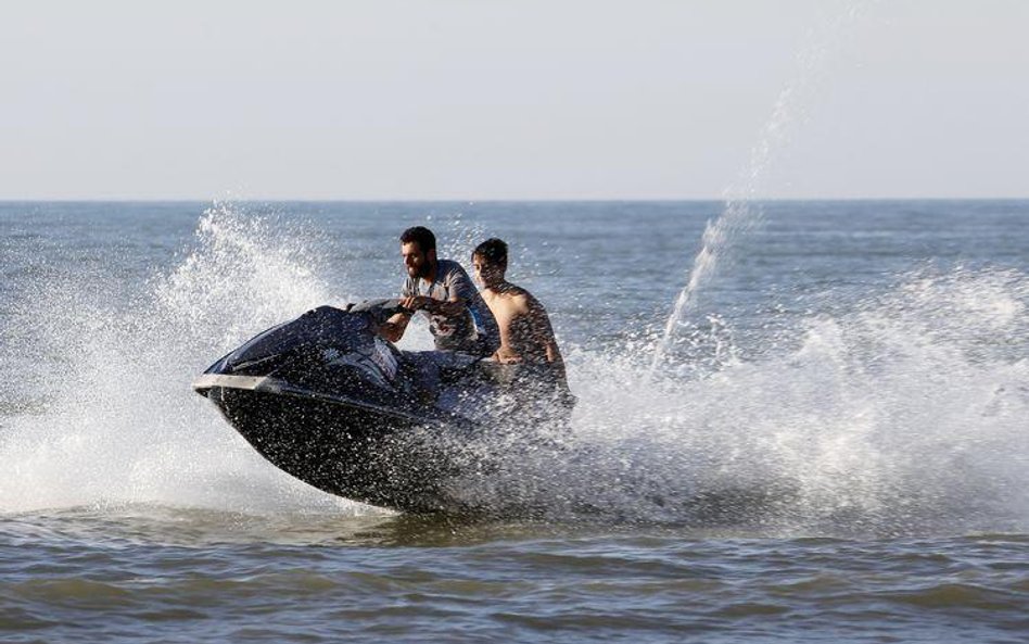
[[[507,244],[487,239],[472,252],[475,279],[500,330],[500,348],[494,359],[504,364],[547,365],[558,382],[568,389],[564,361],[558,350],[546,308],[532,293],[504,278],[507,273]]]

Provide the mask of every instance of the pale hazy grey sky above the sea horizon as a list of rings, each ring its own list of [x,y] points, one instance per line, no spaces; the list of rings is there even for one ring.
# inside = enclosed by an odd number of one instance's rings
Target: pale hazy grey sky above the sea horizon
[[[1027,0],[5,0],[0,199],[1029,197]]]

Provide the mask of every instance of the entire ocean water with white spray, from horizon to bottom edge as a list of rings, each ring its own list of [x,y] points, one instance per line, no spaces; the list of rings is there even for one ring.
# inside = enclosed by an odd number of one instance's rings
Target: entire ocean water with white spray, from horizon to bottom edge
[[[0,641],[1025,642],[1029,202],[732,207],[0,203]],[[326,495],[190,390],[416,224],[550,312],[579,456],[467,481],[531,520]]]

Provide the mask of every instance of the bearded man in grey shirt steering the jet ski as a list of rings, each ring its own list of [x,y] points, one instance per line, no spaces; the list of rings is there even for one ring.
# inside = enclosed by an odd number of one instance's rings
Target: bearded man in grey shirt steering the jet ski
[[[496,319],[461,265],[436,257],[436,238],[423,226],[401,235],[401,256],[407,268],[401,303],[429,318],[440,351],[487,357],[500,346]],[[379,327],[391,342],[404,337],[411,314],[398,313]]]

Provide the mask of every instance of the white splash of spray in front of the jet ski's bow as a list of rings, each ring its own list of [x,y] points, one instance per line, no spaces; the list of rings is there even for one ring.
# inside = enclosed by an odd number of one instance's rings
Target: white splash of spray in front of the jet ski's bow
[[[43,363],[46,403],[0,433],[14,464],[0,470],[0,512],[357,507],[262,462],[189,387],[246,337],[334,300],[315,237],[217,203],[185,258],[128,294],[103,268],[39,283],[25,334],[60,369]]]

